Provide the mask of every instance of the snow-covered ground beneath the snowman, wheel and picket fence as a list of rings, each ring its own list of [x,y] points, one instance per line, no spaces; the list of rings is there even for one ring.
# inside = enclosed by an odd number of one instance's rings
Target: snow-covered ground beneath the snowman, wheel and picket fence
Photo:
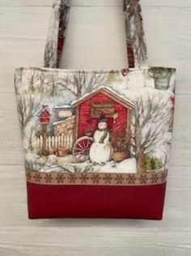
[[[32,168],[38,171],[70,171],[70,172],[110,172],[110,173],[136,173],[135,158],[125,159],[120,163],[110,161],[103,165],[91,163],[89,160],[83,163],[76,163],[74,157],[69,154],[65,157],[55,155],[38,156],[36,154],[27,155],[27,163],[32,164]]]

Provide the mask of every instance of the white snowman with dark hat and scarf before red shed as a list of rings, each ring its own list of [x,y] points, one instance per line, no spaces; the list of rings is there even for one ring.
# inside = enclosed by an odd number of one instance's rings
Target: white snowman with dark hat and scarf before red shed
[[[98,128],[94,132],[94,142],[90,148],[90,160],[92,163],[104,164],[111,160],[112,145],[109,137],[107,121],[106,119],[100,119]]]

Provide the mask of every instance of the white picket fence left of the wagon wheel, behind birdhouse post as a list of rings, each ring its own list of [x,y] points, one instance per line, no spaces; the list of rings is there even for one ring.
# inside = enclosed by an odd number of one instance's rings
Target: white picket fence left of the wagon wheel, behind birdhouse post
[[[62,136],[58,135],[56,137],[47,137],[46,138],[46,149],[49,150],[51,149],[58,149],[58,148],[65,148],[68,150],[72,149],[73,146],[73,136]],[[35,141],[35,146],[38,149],[42,149],[43,146],[43,137],[40,136],[36,139]]]

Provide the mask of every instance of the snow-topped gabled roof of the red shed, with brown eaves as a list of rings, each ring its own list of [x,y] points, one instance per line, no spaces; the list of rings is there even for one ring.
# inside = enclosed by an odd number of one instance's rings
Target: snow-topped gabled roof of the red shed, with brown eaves
[[[112,98],[114,101],[118,102],[119,104],[125,106],[129,110],[134,108],[134,103],[130,102],[128,99],[120,95],[119,93],[115,92],[114,90],[106,87],[106,86],[100,86],[99,89],[93,90],[91,93],[86,93],[83,95],[83,97],[79,98],[78,100],[71,103],[71,106],[79,106],[82,102],[87,101],[89,98],[95,96],[98,93],[104,93],[109,98]]]

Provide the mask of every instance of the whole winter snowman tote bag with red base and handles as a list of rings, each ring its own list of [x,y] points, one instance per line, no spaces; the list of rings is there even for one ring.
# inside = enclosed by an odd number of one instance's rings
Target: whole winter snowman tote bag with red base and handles
[[[59,69],[70,2],[58,0],[45,67],[16,69],[30,219],[162,219],[176,70],[147,66],[140,3],[123,8],[129,67]]]

